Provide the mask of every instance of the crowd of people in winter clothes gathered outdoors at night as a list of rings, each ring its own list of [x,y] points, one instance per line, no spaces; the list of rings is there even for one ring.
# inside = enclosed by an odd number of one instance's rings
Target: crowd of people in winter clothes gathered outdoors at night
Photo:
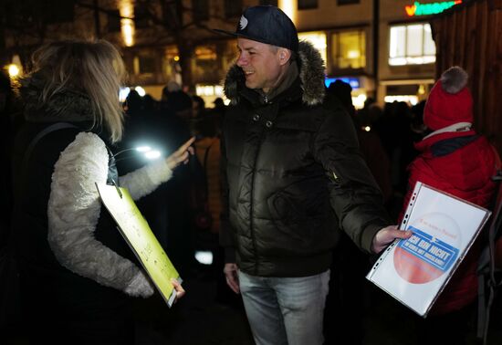
[[[129,189],[183,278],[197,274],[196,250],[211,251],[217,296],[240,295],[258,345],[362,344],[364,277],[412,235],[396,225],[414,183],[491,206],[497,152],[473,130],[462,68],[413,107],[367,99],[356,110],[349,84],[325,88],[319,51],[280,9],[249,7],[242,18],[219,30],[238,47],[229,106],[206,107],[174,81],[160,100],[131,90],[120,103],[125,70],[106,41],[40,47],[16,96],[2,75],[11,167],[1,170],[0,240],[15,248],[31,343],[133,343],[131,299],[154,294],[94,183]],[[141,145],[163,158],[144,159],[132,150]],[[438,328],[445,344],[465,341],[479,246],[431,316],[410,318],[417,341]]]

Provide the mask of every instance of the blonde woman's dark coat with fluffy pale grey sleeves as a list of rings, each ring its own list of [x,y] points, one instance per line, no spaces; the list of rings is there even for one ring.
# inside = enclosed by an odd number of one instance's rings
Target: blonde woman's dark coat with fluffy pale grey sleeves
[[[85,131],[92,120],[89,99],[67,89],[41,103],[40,89],[36,76],[21,89],[26,125],[14,152],[15,228],[24,281],[33,280],[39,291],[59,294],[73,304],[90,298],[89,290],[96,296],[106,288],[151,296],[149,278],[132,262],[134,256],[99,200],[95,183],[107,182],[110,155],[106,140]],[[78,129],[48,133],[23,162],[30,141],[55,122]],[[162,160],[120,176],[120,185],[139,199],[171,176]]]

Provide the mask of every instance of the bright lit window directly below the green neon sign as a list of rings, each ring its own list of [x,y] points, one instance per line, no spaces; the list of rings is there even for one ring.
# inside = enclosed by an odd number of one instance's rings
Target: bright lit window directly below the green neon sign
[[[389,65],[423,65],[435,62],[435,45],[429,24],[392,26]]]

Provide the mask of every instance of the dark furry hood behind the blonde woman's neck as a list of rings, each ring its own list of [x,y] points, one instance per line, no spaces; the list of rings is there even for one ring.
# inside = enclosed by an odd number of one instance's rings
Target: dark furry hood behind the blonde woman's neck
[[[46,121],[92,121],[93,110],[90,99],[73,89],[61,89],[42,99],[46,80],[37,73],[21,80],[18,94],[23,101],[26,120]]]

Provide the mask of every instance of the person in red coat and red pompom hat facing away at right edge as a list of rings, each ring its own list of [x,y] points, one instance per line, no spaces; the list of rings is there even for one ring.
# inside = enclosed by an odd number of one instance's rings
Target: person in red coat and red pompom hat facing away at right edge
[[[459,67],[444,71],[434,84],[424,108],[424,124],[432,131],[415,144],[419,156],[409,165],[408,193],[422,182],[473,204],[488,208],[496,190],[495,150],[473,125],[473,99],[467,88],[468,75]],[[475,242],[434,304],[427,319],[417,319],[419,343],[465,344],[477,296]]]

